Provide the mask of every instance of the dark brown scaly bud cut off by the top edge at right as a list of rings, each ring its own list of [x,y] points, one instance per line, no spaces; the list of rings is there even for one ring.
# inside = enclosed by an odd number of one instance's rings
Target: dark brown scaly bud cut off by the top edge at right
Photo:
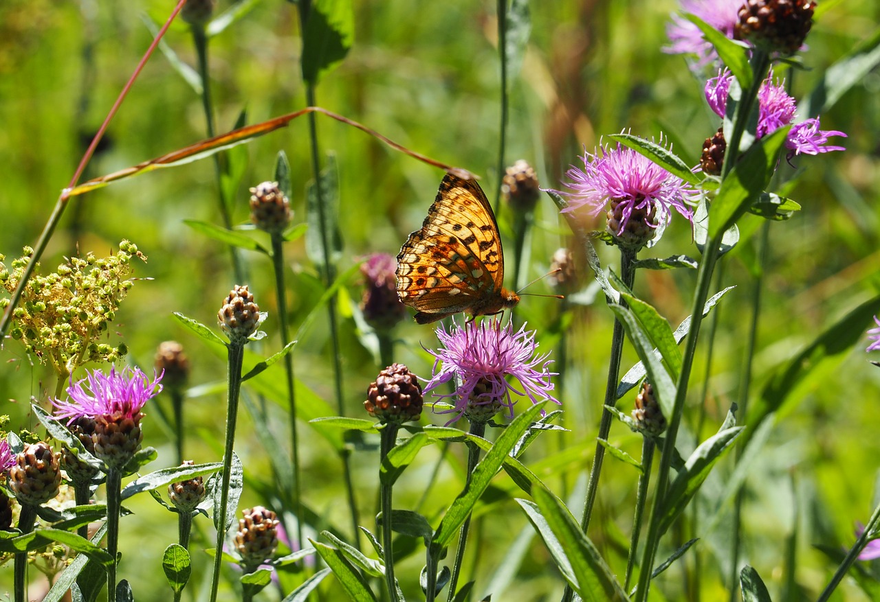
[[[810,33],[815,9],[810,0],[748,0],[739,9],[734,37],[769,53],[795,54]]]

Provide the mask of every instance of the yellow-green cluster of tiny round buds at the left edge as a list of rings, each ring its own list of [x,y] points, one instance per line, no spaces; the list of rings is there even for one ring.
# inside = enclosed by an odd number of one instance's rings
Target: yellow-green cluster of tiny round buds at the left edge
[[[0,285],[11,294],[25,272],[33,249],[7,267],[0,255]],[[123,240],[110,257],[71,257],[45,276],[34,273],[27,281],[21,301],[12,312],[10,336],[28,353],[44,363],[73,371],[87,362],[114,362],[128,350],[125,345],[99,342],[114,320],[121,301],[134,286],[132,257],[146,261],[133,243]],[[39,265],[37,265],[39,269]],[[0,308],[9,305],[0,300]],[[70,362],[76,362],[71,365]]]

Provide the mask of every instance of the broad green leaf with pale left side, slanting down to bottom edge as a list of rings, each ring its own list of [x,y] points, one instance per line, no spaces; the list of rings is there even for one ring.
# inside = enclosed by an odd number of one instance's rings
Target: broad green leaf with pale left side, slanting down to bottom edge
[[[565,504],[542,487],[536,487],[537,504],[517,499],[532,522],[556,566],[584,602],[628,600],[612,570],[599,554]]]

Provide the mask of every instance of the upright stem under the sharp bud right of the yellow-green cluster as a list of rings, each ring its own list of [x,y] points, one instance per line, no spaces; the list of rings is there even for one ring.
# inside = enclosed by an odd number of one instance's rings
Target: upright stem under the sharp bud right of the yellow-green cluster
[[[220,565],[223,562],[223,543],[226,537],[226,517],[229,506],[229,483],[232,476],[232,447],[235,445],[235,423],[238,419],[238,392],[241,389],[241,366],[245,359],[246,341],[232,341],[228,345],[228,379],[226,399],[226,444],[223,454],[223,478],[220,490],[220,508],[214,509],[217,539],[214,547],[214,572],[211,578],[210,602],[216,602],[220,584]]]

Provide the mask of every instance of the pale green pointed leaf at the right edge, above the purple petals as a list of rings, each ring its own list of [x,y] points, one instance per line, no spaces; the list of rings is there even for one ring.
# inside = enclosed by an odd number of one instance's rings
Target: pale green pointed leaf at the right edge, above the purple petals
[[[855,46],[852,51],[825,69],[809,98],[797,103],[798,114],[803,118],[821,115],[837,104],[837,101],[855,86],[862,86],[867,76],[880,64],[880,29],[875,29],[868,40]]]

